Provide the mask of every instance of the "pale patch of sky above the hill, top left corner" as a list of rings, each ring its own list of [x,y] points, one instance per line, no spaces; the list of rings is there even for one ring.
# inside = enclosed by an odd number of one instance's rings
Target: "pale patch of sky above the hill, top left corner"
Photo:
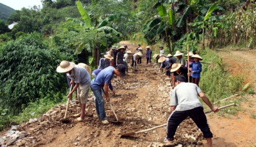
[[[0,0],[0,3],[13,8],[14,10],[21,10],[22,7],[27,9],[32,8],[34,5],[42,8],[41,0]]]

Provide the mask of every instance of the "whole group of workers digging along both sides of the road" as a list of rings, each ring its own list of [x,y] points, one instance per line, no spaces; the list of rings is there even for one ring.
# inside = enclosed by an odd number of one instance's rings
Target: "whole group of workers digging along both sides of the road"
[[[147,46],[146,51],[146,66],[151,62],[152,51],[150,47]],[[137,64],[141,64],[141,58],[143,55],[143,49],[140,45],[136,48],[136,53],[132,57],[133,67],[137,67]],[[83,121],[85,117],[85,107],[87,102],[87,97],[89,89],[93,91],[95,96],[95,107],[97,115],[103,124],[109,124],[107,120],[103,96],[106,97],[106,101],[110,101],[109,88],[115,93],[112,85],[111,79],[116,75],[118,77],[125,76],[127,72],[127,64],[129,61],[129,54],[131,50],[127,50],[127,46],[122,46],[117,49],[117,47],[111,47],[111,50],[106,52],[105,58],[99,60],[99,67],[94,70],[92,75],[94,77],[91,80],[90,68],[86,64],[76,65],[73,62],[68,62],[63,60],[57,67],[57,72],[66,73],[66,76],[70,79],[70,84],[75,83],[75,87],[67,95],[72,99],[72,93],[77,90],[78,101],[81,106],[81,112],[74,115],[78,117],[76,121]],[[190,60],[186,60],[182,57],[183,53],[177,51],[174,56],[164,54],[163,47],[160,47],[160,54],[156,54],[153,58],[157,59],[157,62],[161,63],[160,69],[166,68],[166,75],[171,77],[173,91],[170,97],[170,116],[167,120],[167,136],[164,140],[165,143],[171,143],[174,140],[174,134],[178,125],[190,116],[195,122],[199,129],[203,132],[203,136],[206,138],[208,146],[212,146],[211,138],[213,134],[210,131],[209,125],[207,124],[207,119],[205,113],[203,112],[203,105],[198,99],[198,95],[202,100],[210,107],[214,112],[219,110],[218,107],[213,106],[207,96],[198,87],[200,72],[202,71],[202,65],[199,60],[202,60],[201,56],[193,55],[189,52]],[[187,55],[186,55],[187,56]],[[187,70],[189,67],[189,72]],[[189,74],[188,74],[189,73]],[[192,83],[188,83],[188,77],[191,76]],[[174,86],[176,86],[174,88]]]

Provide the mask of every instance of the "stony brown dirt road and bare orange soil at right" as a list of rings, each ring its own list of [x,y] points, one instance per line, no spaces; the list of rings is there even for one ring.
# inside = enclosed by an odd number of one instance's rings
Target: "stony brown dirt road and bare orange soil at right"
[[[135,44],[127,44],[134,52]],[[251,87],[255,84],[254,64],[256,55],[251,50],[246,51],[218,51],[223,62],[233,75],[247,74],[245,81],[250,81]],[[145,54],[145,52],[144,52]],[[145,133],[134,134],[130,137],[120,138],[121,134],[149,129],[167,123],[169,116],[169,103],[171,92],[169,78],[158,75],[157,67],[152,64],[145,65],[142,58],[139,71],[129,69],[127,76],[121,80],[113,78],[116,95],[111,95],[111,103],[121,123],[114,123],[115,116],[110,105],[105,103],[108,120],[112,123],[103,125],[95,111],[93,95],[90,95],[86,105],[87,116],[81,123],[76,123],[72,115],[79,112],[76,101],[70,104],[67,116],[69,124],[61,123],[65,114],[66,105],[50,109],[35,123],[21,124],[19,130],[29,135],[15,142],[15,146],[162,146],[166,136],[166,127],[151,130]],[[246,66],[245,66],[246,65]],[[234,67],[233,67],[234,66]],[[251,78],[253,77],[253,78]],[[247,79],[249,78],[249,79]],[[253,87],[255,88],[255,87]],[[237,107],[241,107],[236,115],[222,117],[218,113],[207,114],[211,131],[214,134],[214,146],[255,146],[256,145],[256,111],[255,95],[238,96],[230,100],[245,99]],[[226,108],[229,109],[229,108]],[[205,108],[209,110],[209,108]],[[254,118],[253,118],[254,117]],[[183,146],[207,146],[206,140],[193,121],[186,120],[179,126],[175,134],[175,144]]]

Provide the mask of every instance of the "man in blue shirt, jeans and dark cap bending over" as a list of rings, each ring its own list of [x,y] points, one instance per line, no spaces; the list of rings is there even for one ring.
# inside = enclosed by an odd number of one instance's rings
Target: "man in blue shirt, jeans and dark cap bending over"
[[[109,124],[109,121],[107,121],[101,89],[103,88],[105,92],[106,101],[110,101],[109,84],[111,83],[111,79],[113,78],[114,74],[120,77],[125,76],[125,70],[126,68],[124,64],[118,64],[117,69],[114,67],[107,67],[99,72],[95,79],[91,81],[91,91],[93,91],[94,96],[96,97],[95,105],[97,115],[102,120],[103,124]]]

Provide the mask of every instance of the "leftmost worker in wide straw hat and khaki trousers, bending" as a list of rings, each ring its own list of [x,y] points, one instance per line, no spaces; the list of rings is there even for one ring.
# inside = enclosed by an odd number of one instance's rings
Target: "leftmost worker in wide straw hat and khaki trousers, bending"
[[[78,117],[76,121],[81,122],[85,118],[85,107],[88,99],[89,89],[90,89],[90,81],[91,77],[89,72],[83,67],[80,67],[78,65],[75,65],[73,62],[68,62],[66,60],[63,60],[59,66],[57,67],[57,72],[59,73],[66,73],[67,77],[71,79],[70,84],[75,83],[75,87],[72,89],[72,91],[67,95],[69,99],[72,99],[72,94],[77,89],[78,93],[78,101],[80,103],[81,112],[77,115],[74,115],[75,117]]]

